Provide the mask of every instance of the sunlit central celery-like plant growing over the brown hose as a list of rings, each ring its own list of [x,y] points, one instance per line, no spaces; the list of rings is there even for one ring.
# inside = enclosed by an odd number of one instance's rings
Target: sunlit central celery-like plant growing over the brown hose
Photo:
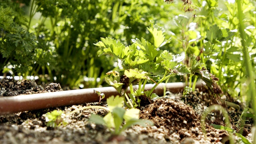
[[[127,100],[132,99],[132,103],[129,101],[130,106],[136,107],[140,105],[140,96],[146,96],[149,100],[156,97],[156,94],[152,94],[153,90],[158,84],[168,80],[173,75],[195,74],[200,76],[210,88],[214,83],[214,78],[211,77],[207,70],[202,70],[200,63],[194,63],[193,66],[188,69],[182,61],[185,58],[184,54],[173,55],[167,50],[161,50],[161,46],[164,46],[170,39],[165,40],[165,36],[162,30],[157,28],[148,28],[148,31],[154,38],[154,44],[151,44],[144,38],[133,39],[132,45],[125,46],[120,41],[112,38],[101,38],[101,41],[96,43],[96,46],[101,48],[99,56],[109,55],[114,57],[120,67],[123,68],[122,75],[116,71],[110,71],[106,74],[113,76],[106,77],[106,82],[113,86],[121,96],[126,96]],[[152,90],[144,92],[144,87],[147,82],[156,83]],[[138,90],[134,92],[132,89],[133,84],[138,84]],[[127,88],[130,87],[129,98],[126,95]]]

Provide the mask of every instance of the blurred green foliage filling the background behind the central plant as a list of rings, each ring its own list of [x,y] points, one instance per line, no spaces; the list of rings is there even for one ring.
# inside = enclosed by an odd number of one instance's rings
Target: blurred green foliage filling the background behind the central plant
[[[243,0],[244,25],[252,65],[255,59],[255,1]],[[0,0],[0,69],[4,75],[39,76],[42,83],[92,88],[104,86],[118,63],[98,57],[94,44],[101,37],[120,40],[145,38],[153,43],[147,27],[165,32],[169,44],[161,49],[186,54],[191,67],[202,66],[220,79],[224,92],[238,96],[244,91],[241,38],[236,4],[231,0],[193,0],[170,4],[163,0]],[[196,77],[170,78],[196,81]]]

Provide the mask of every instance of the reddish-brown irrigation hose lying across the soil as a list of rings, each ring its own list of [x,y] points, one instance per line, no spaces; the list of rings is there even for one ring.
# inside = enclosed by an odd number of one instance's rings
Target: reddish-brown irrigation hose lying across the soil
[[[155,88],[154,93],[156,93],[158,96],[162,96],[164,94],[164,85],[164,83],[159,84]],[[196,88],[202,90],[204,88],[203,85],[204,84],[202,83],[197,83]],[[146,84],[145,90],[151,90],[153,86],[154,84]],[[182,82],[168,83],[166,84],[166,90],[173,93],[178,93],[182,92],[184,86],[185,84]],[[136,89],[138,89],[138,85],[134,86],[134,90]],[[94,93],[94,90],[99,90],[101,93],[104,93],[104,100],[112,95],[119,95],[113,87],[104,87],[0,97],[0,115],[59,106],[98,102],[100,97],[98,94]],[[130,90],[128,89],[127,93],[129,92]]]

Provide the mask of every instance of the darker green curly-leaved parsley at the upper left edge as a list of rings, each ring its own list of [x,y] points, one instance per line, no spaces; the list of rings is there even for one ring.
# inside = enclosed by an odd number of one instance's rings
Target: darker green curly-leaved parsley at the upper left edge
[[[35,63],[41,66],[51,63],[52,51],[38,47],[36,35],[24,29],[27,20],[20,4],[29,3],[30,0],[0,1],[0,70],[3,73],[26,76]]]

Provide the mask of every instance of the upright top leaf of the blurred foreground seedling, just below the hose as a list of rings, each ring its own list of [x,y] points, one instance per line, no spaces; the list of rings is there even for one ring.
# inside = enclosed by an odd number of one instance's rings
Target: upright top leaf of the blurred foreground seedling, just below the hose
[[[124,106],[124,98],[120,96],[110,96],[107,99],[109,111],[111,112],[115,107],[122,108]]]

